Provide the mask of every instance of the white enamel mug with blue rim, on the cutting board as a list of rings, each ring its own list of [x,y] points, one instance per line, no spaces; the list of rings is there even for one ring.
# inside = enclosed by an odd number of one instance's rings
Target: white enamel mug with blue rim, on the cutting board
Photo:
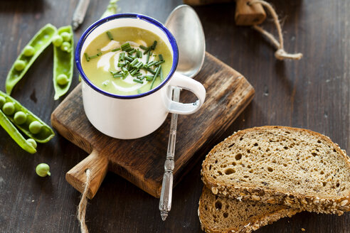
[[[117,95],[101,90],[94,85],[81,66],[84,51],[97,36],[111,28],[132,26],[146,29],[164,40],[173,64],[169,74],[160,85],[148,92],[135,95]],[[85,114],[90,123],[103,134],[117,139],[137,139],[151,134],[159,128],[169,112],[192,114],[201,108],[206,97],[203,85],[177,72],[179,50],[174,36],[159,21],[137,13],[120,13],[92,24],[80,38],[75,50],[75,63],[82,77],[82,94]],[[198,98],[193,103],[179,103],[171,100],[172,87],[193,92]]]

